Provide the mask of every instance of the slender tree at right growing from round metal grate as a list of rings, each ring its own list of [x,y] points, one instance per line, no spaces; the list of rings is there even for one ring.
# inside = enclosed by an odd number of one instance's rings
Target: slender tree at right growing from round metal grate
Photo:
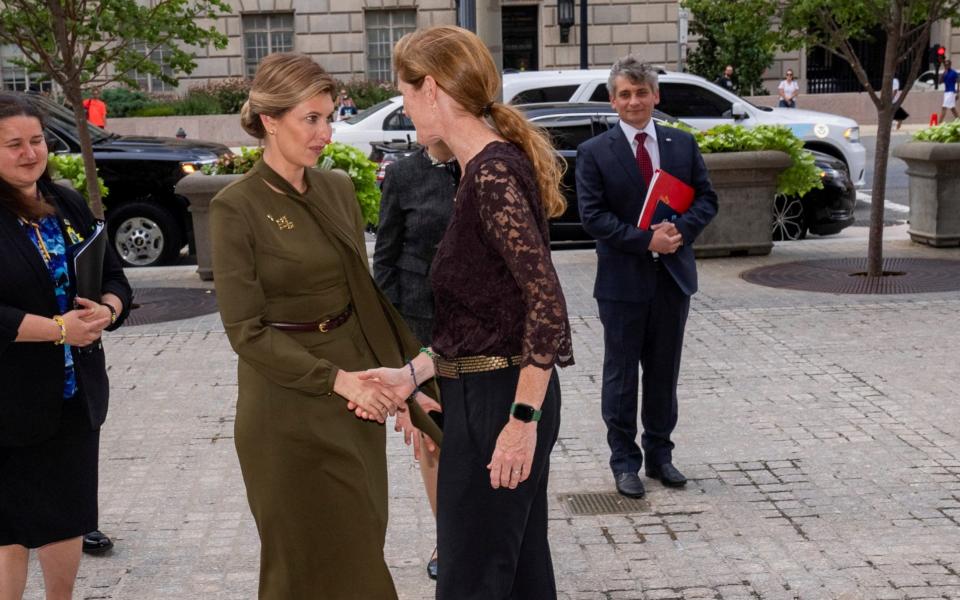
[[[776,1],[776,0],[772,0]],[[920,72],[931,27],[960,15],[960,0],[790,0],[781,5],[785,49],[819,46],[846,61],[877,109],[877,151],[873,169],[867,275],[883,275],[883,204],[893,114],[903,104]],[[871,31],[886,35],[880,89],[870,79],[851,40],[868,39]],[[901,94],[893,101],[893,78],[905,73]]]

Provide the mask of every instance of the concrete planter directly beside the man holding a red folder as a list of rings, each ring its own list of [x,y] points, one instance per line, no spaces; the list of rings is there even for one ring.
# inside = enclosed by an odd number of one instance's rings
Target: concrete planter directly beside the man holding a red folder
[[[704,154],[719,212],[694,244],[697,257],[770,254],[777,176],[791,165],[785,152]]]

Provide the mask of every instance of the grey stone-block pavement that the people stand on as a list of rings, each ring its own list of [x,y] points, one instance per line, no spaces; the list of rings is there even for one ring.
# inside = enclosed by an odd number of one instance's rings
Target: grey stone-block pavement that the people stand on
[[[568,502],[613,486],[594,254],[554,253],[577,359],[561,372],[550,484],[562,598],[960,598],[960,293],[845,296],[739,278],[758,265],[863,256],[865,235],[855,227],[778,243],[767,257],[700,262],[675,451],[691,482],[649,482],[628,514],[579,516]],[[890,257],[960,259],[960,249],[912,244],[904,226],[886,238]],[[140,287],[203,287],[193,269],[129,275]],[[106,345],[101,526],[116,548],[84,557],[77,597],[254,598],[257,536],[232,440],[236,359],[218,317],[127,327]],[[387,561],[401,598],[432,598],[433,519],[390,431]],[[31,587],[39,598],[36,563]]]

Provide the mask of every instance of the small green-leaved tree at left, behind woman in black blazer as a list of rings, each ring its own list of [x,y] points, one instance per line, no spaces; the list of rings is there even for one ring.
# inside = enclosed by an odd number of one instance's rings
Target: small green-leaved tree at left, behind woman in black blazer
[[[23,52],[21,64],[45,73],[63,89],[73,107],[80,138],[87,192],[94,214],[103,217],[97,188],[93,145],[83,109],[84,88],[112,82],[136,86],[134,69],[176,84],[163,67],[150,60],[159,48],[166,52],[165,66],[173,73],[190,73],[194,55],[181,48],[226,46],[227,38],[198,21],[229,13],[223,0],[6,0],[0,3],[0,42]],[[94,83],[95,82],[95,83]]]

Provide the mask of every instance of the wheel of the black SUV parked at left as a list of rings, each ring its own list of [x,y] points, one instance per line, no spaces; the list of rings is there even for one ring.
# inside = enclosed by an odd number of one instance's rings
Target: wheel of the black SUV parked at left
[[[166,210],[150,202],[128,202],[109,215],[110,239],[124,266],[153,267],[174,262],[183,232]]]

